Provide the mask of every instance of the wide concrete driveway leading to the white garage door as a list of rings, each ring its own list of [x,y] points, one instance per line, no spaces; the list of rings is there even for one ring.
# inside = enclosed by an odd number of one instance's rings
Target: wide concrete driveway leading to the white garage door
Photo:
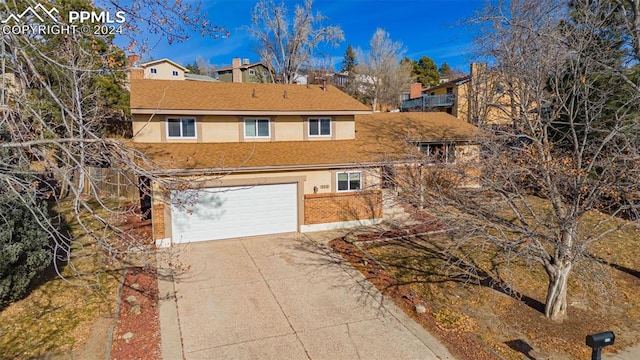
[[[187,269],[160,283],[163,358],[453,359],[328,250],[338,235],[174,248]]]

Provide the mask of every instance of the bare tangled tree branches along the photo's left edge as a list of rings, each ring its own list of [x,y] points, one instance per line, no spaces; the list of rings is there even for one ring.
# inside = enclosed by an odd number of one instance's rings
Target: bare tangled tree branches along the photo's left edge
[[[72,6],[95,9],[91,3],[51,6],[63,13],[77,10]],[[130,16],[127,26],[131,32],[127,35],[132,38],[136,37],[132,30],[137,28],[136,20],[142,19],[151,31],[172,40],[184,38],[186,28],[164,26],[186,19],[175,13],[172,2],[106,1],[101,5],[109,8],[109,4],[119,5],[117,9],[124,9]],[[0,13],[4,19],[7,14],[20,14],[29,6],[37,9],[37,5],[32,0],[7,1],[0,4]],[[200,25],[204,25],[206,33],[218,31],[207,23]],[[11,75],[15,86],[2,89],[6,101],[0,107],[0,132],[9,137],[0,141],[0,150],[5,150],[0,151],[3,154],[0,188],[31,210],[54,244],[58,260],[67,261],[72,267],[70,247],[75,239],[64,229],[65,216],[74,218],[82,236],[92,238],[95,251],[106,254],[110,260],[122,259],[132,249],[148,248],[148,244],[139,243],[118,226],[120,220],[134,214],[135,206],[120,207],[117,201],[106,199],[99,191],[100,178],[93,170],[110,168],[125,175],[119,178],[130,179],[134,187],[139,185],[137,179],[163,183],[153,172],[160,167],[158,164],[131,146],[129,139],[105,131],[114,112],[125,115],[124,109],[114,106],[114,96],[128,99],[124,91],[124,52],[112,41],[110,36],[81,31],[3,35],[3,84]],[[148,193],[150,189],[143,186],[142,191]],[[35,199],[46,199],[52,209],[64,214],[52,215],[46,208],[32,206]]]

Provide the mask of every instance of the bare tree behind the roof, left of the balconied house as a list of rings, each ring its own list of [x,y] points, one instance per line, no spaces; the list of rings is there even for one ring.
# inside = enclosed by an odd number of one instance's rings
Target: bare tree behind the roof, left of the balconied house
[[[357,86],[374,111],[379,104],[397,107],[411,78],[410,65],[400,61],[404,55],[403,45],[393,41],[383,29],[377,29],[369,46],[368,52],[356,51],[359,62]]]

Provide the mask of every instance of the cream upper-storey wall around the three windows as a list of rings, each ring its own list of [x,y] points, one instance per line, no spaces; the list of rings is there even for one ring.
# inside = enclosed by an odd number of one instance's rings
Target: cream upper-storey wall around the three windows
[[[168,117],[175,115],[133,115],[134,142],[241,142],[244,141],[245,116],[186,116],[196,119],[195,139],[167,139]],[[355,139],[354,116],[331,116],[331,136],[309,137],[308,117],[265,116],[272,120],[271,138],[251,141],[326,141]]]

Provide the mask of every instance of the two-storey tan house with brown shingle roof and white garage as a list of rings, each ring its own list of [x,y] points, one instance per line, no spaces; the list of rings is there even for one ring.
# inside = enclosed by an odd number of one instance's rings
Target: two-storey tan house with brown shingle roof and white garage
[[[383,162],[475,146],[450,115],[372,114],[330,85],[132,79],[131,114],[162,245],[379,223]]]

